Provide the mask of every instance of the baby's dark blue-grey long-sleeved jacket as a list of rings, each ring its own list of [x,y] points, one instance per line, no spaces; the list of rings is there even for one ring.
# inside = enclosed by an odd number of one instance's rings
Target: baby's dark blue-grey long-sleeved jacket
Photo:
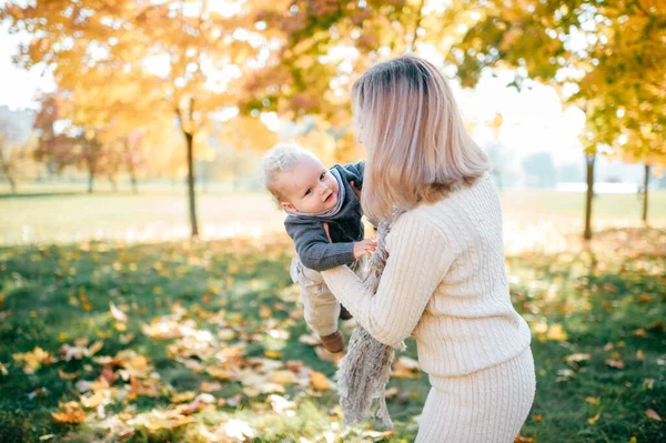
[[[344,201],[340,212],[331,218],[290,214],[284,220],[284,228],[296,246],[296,253],[304,266],[315,271],[324,271],[343,264],[351,264],[354,258],[354,242],[363,240],[361,222],[361,202],[352,189],[363,187],[363,169],[365,162],[336,164],[345,187]],[[329,223],[331,240],[329,242],[323,222]]]

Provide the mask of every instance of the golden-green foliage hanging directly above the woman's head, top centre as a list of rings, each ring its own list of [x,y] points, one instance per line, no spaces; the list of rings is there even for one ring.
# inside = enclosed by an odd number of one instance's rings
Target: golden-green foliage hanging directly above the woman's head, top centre
[[[275,111],[301,121],[319,117],[319,131],[333,134],[335,151],[355,148],[349,90],[374,62],[405,51],[428,51],[441,61],[471,20],[443,3],[422,0],[289,0],[258,8],[271,41],[265,68],[249,75],[241,111]],[[352,149],[353,150],[353,149]]]

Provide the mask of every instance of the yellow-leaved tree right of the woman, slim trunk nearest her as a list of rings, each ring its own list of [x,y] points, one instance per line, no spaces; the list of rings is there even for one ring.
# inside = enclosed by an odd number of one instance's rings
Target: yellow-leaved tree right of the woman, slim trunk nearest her
[[[486,69],[511,68],[516,70],[513,85],[519,88],[527,77],[549,83],[586,113],[584,238],[589,239],[597,152],[618,149],[626,131],[636,134],[636,127],[664,140],[666,4],[488,0],[476,6],[475,22],[450,56],[463,84],[475,84]],[[629,109],[634,123],[624,117]],[[622,150],[643,148],[625,143]]]

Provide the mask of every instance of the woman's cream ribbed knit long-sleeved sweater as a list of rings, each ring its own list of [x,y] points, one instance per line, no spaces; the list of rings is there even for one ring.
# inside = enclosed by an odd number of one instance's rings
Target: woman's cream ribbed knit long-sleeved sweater
[[[377,341],[412,332],[431,376],[465,375],[529,346],[504,266],[502,209],[488,174],[435,204],[405,212],[386,239],[376,295],[347,268],[322,272],[335,296]]]

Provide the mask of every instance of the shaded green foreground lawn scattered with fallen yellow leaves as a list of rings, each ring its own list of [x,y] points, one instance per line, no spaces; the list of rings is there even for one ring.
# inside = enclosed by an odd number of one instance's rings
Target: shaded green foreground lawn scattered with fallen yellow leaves
[[[537,372],[519,441],[666,439],[665,245],[624,229],[507,256]],[[340,430],[291,253],[283,235],[0,249],[0,442],[413,441],[428,386],[410,360],[390,382],[395,432]]]

